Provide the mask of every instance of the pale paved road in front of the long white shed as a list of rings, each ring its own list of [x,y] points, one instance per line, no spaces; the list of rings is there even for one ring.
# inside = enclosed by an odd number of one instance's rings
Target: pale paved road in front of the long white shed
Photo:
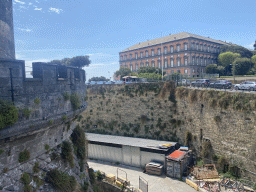
[[[136,167],[129,167],[126,165],[115,165],[103,161],[88,160],[89,167],[94,170],[100,170],[106,174],[112,173],[117,176],[117,168],[124,170],[127,173],[127,178],[131,185],[139,188],[139,176],[148,181],[149,192],[196,192],[192,187],[185,182],[177,179],[172,179],[162,176],[148,175],[142,172],[141,169]],[[125,174],[119,171],[121,177],[125,178]]]

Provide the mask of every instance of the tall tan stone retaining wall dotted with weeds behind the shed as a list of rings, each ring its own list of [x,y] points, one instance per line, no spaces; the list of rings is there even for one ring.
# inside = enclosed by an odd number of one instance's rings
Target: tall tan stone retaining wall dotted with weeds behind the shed
[[[86,131],[179,141],[205,162],[223,156],[242,175],[255,177],[255,94],[171,83],[100,85],[87,92],[89,105],[80,117]]]

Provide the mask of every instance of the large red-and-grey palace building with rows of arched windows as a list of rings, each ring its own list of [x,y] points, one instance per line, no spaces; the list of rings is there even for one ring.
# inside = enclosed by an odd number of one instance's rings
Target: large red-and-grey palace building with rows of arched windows
[[[119,53],[119,63],[135,72],[140,67],[152,66],[163,68],[168,74],[179,72],[199,77],[207,65],[217,62],[220,47],[227,44],[182,32],[133,45]]]

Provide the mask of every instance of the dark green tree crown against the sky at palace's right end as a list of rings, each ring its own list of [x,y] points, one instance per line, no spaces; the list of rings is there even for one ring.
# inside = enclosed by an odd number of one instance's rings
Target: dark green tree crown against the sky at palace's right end
[[[220,53],[225,53],[225,52],[232,52],[232,53],[239,53],[241,57],[247,57],[251,58],[253,53],[249,50],[246,49],[242,46],[238,45],[224,45],[220,48]]]

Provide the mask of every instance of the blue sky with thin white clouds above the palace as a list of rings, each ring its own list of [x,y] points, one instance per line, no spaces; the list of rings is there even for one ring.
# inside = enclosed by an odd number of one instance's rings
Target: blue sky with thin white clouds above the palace
[[[91,77],[113,78],[119,52],[189,32],[253,49],[256,0],[13,0],[16,59],[89,55]]]

